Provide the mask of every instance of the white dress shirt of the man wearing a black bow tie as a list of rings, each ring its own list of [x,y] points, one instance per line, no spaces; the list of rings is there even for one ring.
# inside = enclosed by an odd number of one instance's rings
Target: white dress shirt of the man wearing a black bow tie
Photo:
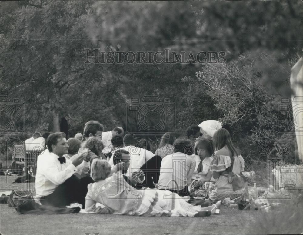
[[[66,163],[60,164],[58,157],[50,152],[38,156],[35,181],[37,195],[51,194],[58,185],[64,183],[77,171],[70,160],[66,159]]]

